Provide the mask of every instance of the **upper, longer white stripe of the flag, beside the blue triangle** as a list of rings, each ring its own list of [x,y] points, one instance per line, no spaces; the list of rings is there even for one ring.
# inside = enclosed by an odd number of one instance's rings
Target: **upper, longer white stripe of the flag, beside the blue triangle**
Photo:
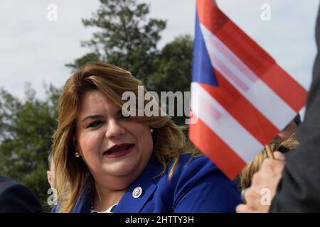
[[[297,113],[213,33],[201,25],[211,64],[274,126],[282,130]]]

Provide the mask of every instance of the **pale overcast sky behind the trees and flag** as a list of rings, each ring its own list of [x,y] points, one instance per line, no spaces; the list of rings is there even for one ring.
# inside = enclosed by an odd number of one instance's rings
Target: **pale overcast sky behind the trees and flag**
[[[159,44],[194,33],[195,0],[140,0],[151,17],[167,20]],[[319,0],[217,0],[240,28],[274,57],[306,89],[316,55],[314,27]],[[58,21],[48,20],[48,5],[58,6]],[[23,97],[25,82],[43,96],[43,82],[62,86],[70,77],[65,63],[90,50],[80,47],[92,30],[82,26],[98,0],[1,0],[0,87]],[[270,4],[271,21],[262,21],[262,4]]]

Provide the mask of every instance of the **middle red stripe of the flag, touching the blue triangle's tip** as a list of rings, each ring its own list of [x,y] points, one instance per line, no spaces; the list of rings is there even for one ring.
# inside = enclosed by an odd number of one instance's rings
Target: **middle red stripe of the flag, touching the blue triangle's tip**
[[[213,98],[218,101],[230,115],[235,118],[262,145],[277,135],[279,130],[261,112],[247,101],[220,72],[215,70],[219,87],[201,84]]]

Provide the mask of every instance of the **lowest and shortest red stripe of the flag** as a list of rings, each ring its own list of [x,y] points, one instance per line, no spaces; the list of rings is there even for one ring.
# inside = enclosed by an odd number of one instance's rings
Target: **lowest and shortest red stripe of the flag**
[[[197,116],[192,114],[192,121]],[[246,163],[218,135],[216,135],[200,118],[197,123],[190,125],[189,137],[194,145],[207,155],[219,169],[234,179],[245,167]]]

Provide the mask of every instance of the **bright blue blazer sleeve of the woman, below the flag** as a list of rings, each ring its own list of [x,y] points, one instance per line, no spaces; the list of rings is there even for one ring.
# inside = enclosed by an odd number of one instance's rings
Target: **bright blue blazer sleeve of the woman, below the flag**
[[[176,212],[235,212],[240,192],[206,156],[183,154],[170,182]]]

